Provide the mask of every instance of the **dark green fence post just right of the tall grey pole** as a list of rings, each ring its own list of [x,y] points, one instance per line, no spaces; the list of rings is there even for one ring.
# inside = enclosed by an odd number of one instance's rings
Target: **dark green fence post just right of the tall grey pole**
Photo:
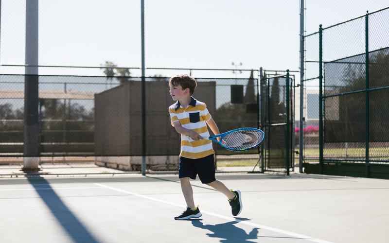
[[[323,174],[323,29],[319,25],[319,163]]]

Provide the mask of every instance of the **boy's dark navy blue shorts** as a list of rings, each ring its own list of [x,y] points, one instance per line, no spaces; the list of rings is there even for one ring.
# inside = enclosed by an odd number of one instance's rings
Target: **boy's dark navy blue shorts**
[[[179,157],[178,178],[190,177],[195,180],[197,174],[203,184],[216,180],[213,155],[203,158]]]

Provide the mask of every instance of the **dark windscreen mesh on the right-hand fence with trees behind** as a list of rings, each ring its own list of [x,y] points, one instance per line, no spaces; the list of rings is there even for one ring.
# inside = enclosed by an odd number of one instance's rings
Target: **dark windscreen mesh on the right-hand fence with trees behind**
[[[326,64],[326,73],[334,79],[326,80],[336,84],[337,89],[332,93],[364,90],[366,88],[365,53],[344,58],[339,62]],[[348,63],[342,69],[342,66]],[[339,69],[343,72],[337,75]],[[369,87],[388,87],[389,77],[389,48],[369,53]],[[327,90],[326,90],[327,92]],[[336,103],[337,101],[337,103]],[[329,142],[364,142],[366,126],[365,92],[339,95],[326,98],[326,114],[338,114],[337,119],[326,118],[326,141]],[[369,124],[371,141],[389,140],[389,88],[369,92]]]

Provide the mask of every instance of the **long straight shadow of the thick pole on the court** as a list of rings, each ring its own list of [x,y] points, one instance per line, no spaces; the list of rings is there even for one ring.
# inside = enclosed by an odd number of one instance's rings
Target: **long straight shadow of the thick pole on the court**
[[[46,179],[42,177],[28,178],[28,181],[73,242],[100,243],[64,204]],[[38,183],[39,185],[37,185]],[[42,184],[46,184],[45,188],[50,190],[39,190],[41,189],[39,186]]]

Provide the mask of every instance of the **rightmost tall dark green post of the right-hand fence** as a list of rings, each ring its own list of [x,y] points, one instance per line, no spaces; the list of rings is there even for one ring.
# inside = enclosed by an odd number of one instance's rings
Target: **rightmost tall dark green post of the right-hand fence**
[[[366,13],[365,17],[365,75],[366,75],[366,91],[365,91],[365,105],[366,105],[366,132],[365,132],[365,164],[366,164],[366,177],[370,177],[369,167],[369,141],[370,141],[370,124],[369,124],[369,12]]]

